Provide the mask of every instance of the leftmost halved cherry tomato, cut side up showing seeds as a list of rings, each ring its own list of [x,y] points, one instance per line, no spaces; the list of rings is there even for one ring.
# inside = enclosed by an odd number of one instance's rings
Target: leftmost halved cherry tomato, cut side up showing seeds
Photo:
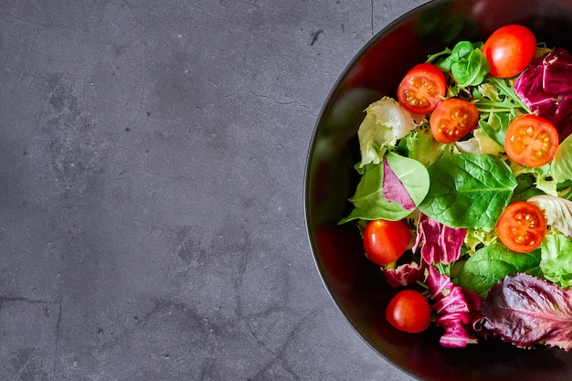
[[[436,66],[422,63],[408,71],[397,88],[397,101],[409,112],[425,115],[435,110],[447,93],[445,75]]]

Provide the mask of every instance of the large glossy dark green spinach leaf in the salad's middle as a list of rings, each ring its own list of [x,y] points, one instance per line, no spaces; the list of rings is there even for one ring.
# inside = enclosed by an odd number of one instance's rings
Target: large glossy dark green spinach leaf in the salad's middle
[[[445,157],[428,171],[429,193],[419,209],[450,228],[494,228],[517,185],[509,166],[486,154]]]

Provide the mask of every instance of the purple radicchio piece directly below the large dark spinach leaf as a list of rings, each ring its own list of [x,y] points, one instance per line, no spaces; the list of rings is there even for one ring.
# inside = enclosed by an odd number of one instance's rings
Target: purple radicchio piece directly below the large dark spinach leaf
[[[449,228],[421,214],[413,251],[421,246],[421,257],[427,263],[449,264],[461,258],[461,246],[466,235],[466,228]]]

